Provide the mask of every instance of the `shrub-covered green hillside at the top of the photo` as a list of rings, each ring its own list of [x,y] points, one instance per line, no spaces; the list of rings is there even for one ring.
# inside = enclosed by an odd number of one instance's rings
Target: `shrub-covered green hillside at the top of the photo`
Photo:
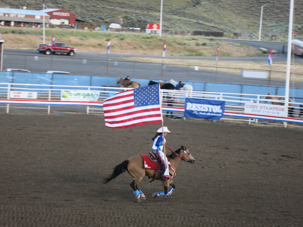
[[[160,0],[2,0],[0,7],[41,10],[60,8],[75,13],[88,25],[100,26],[119,23],[123,27],[145,28],[147,23],[159,23]],[[241,33],[258,38],[261,6],[263,8],[262,39],[277,35],[278,40],[287,39],[290,1],[285,0],[163,0],[162,28],[164,31],[222,31]],[[303,1],[295,1],[293,31],[303,39]]]

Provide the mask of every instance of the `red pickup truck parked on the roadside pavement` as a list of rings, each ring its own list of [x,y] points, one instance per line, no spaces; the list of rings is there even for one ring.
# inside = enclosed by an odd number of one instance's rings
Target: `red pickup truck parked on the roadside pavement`
[[[68,47],[64,43],[55,43],[52,44],[39,44],[37,51],[44,54],[67,54],[74,56],[76,53],[76,48]]]

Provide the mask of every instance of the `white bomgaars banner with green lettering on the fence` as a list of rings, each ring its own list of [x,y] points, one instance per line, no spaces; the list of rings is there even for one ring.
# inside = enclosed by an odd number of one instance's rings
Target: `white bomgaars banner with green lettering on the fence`
[[[99,91],[92,90],[62,90],[62,101],[97,101]]]

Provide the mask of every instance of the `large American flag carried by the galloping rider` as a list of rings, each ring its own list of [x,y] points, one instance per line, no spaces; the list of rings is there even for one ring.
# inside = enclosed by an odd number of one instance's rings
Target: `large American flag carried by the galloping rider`
[[[103,102],[105,126],[128,128],[162,123],[160,84],[122,91]]]

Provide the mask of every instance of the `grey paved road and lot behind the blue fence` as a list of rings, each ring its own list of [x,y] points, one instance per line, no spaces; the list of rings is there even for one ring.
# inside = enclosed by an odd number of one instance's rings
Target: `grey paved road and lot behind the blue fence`
[[[38,56],[38,57],[35,57]],[[203,70],[198,71],[189,67],[179,67],[162,64],[138,63],[120,59],[122,56],[142,56],[161,58],[161,56],[130,55],[130,54],[103,54],[103,53],[77,53],[75,56],[51,55],[46,56],[35,50],[4,50],[3,69],[25,68],[32,72],[46,72],[48,70],[68,71],[77,75],[99,76],[130,76],[132,78],[146,78],[152,80],[176,81],[201,81],[221,82],[234,84],[256,84],[285,86],[285,81],[268,81],[243,79],[239,74],[222,73]],[[275,54],[273,61],[286,61],[286,54]],[[215,60],[215,57],[178,57],[167,58]],[[221,57],[221,60],[232,61],[265,61],[267,56],[255,56],[250,58]],[[303,61],[303,58],[295,57],[295,61]],[[240,69],[239,69],[240,70]],[[301,83],[295,83],[295,87],[302,87]]]

